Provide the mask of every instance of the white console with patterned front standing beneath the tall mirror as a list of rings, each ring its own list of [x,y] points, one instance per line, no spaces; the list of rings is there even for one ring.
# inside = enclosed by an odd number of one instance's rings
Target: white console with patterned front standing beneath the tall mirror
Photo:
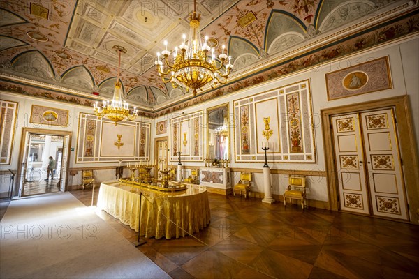
[[[201,167],[199,183],[207,187],[210,193],[228,195],[232,191],[230,170],[226,167]]]

